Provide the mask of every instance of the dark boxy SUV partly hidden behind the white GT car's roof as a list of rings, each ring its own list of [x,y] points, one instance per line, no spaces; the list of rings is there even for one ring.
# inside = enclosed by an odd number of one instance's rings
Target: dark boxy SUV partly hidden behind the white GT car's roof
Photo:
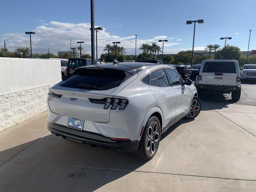
[[[95,60],[95,64],[101,64],[100,60]],[[69,58],[68,59],[68,73],[67,76],[72,76],[74,70],[78,67],[82,66],[89,66],[92,65],[91,59],[84,59],[84,58]]]

